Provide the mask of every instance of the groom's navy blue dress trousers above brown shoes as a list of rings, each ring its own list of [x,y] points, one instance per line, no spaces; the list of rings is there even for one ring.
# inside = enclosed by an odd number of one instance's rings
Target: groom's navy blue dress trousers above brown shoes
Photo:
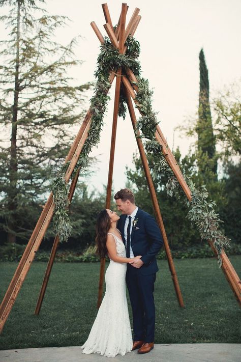
[[[154,342],[155,336],[153,293],[156,273],[143,275],[140,269],[127,265],[126,282],[133,314],[133,340],[150,343]]]

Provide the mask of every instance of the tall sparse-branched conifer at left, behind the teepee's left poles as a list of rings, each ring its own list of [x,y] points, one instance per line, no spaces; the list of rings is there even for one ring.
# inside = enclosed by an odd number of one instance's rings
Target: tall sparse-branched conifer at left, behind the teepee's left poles
[[[10,8],[0,18],[9,32],[0,42],[0,216],[9,242],[28,238],[41,198],[69,150],[71,126],[81,121],[83,92],[89,88],[73,86],[68,76],[69,68],[80,65],[73,52],[76,39],[65,46],[54,41],[54,31],[67,19],[46,14],[38,3],[44,1],[0,4]]]

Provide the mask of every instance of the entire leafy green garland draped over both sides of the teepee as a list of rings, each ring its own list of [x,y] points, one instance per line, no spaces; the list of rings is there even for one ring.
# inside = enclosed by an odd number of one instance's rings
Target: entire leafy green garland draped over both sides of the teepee
[[[168,176],[168,182],[166,184],[168,195],[185,200],[189,207],[188,218],[192,224],[197,226],[202,240],[210,240],[214,243],[218,252],[218,261],[221,265],[221,251],[224,247],[230,245],[229,239],[219,230],[221,220],[215,212],[216,204],[214,201],[207,200],[208,192],[205,186],[197,189],[191,180],[186,180],[192,192],[192,200],[187,200],[182,187],[180,187],[179,182],[164,157],[162,147],[155,138],[156,126],[158,124],[157,114],[152,109],[153,91],[149,89],[148,80],[140,77],[141,69],[137,61],[140,52],[139,42],[129,37],[126,44],[126,55],[120,54],[118,50],[112,46],[108,38],[105,38],[104,44],[101,45],[101,51],[97,60],[98,67],[95,72],[95,77],[97,78],[96,89],[91,99],[91,127],[71,178],[75,176],[78,170],[82,171],[86,169],[89,152],[91,152],[93,146],[99,143],[100,131],[103,127],[103,116],[107,109],[107,101],[109,100],[108,92],[110,83],[108,77],[110,71],[121,67],[123,73],[125,73],[125,69],[127,67],[130,68],[136,75],[138,84],[136,100],[141,117],[137,122],[137,130],[141,131],[140,137],[143,138],[146,152],[153,155],[156,160],[153,178],[155,179],[157,175],[160,176],[163,174]],[[118,115],[125,118],[126,109],[126,97],[121,91]],[[67,210],[69,205],[68,190],[64,179],[68,165],[69,162],[61,166],[57,177],[51,184],[55,204],[55,230],[61,241],[67,241],[71,232],[71,224]]]

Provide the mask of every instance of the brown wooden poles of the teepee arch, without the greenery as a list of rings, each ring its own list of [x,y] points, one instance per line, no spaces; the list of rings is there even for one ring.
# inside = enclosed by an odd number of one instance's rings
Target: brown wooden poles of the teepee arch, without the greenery
[[[103,4],[102,5],[103,8],[103,12],[104,12],[104,16],[105,16],[105,20],[106,20],[106,24],[104,24],[104,28],[106,30],[106,33],[111,41],[111,43],[113,44],[113,46],[118,49],[119,53],[125,53],[127,48],[125,46],[125,42],[127,40],[127,37],[133,36],[137,26],[139,24],[139,21],[141,19],[141,16],[138,15],[139,14],[139,9],[136,8],[134,10],[134,13],[126,27],[126,14],[127,14],[127,4],[122,4],[122,11],[119,17],[119,21],[118,24],[116,26],[116,29],[114,30],[113,25],[112,25],[112,21],[110,18],[110,14],[109,14],[109,10],[108,10],[108,6],[107,4]],[[101,34],[101,32],[99,31],[97,25],[95,24],[95,22],[93,21],[91,23],[91,26],[93,27],[93,30],[95,32],[95,34],[97,35],[98,39],[100,40],[101,43],[104,43],[104,38]],[[137,85],[137,79],[135,77],[135,74],[132,72],[131,69],[125,69],[125,74],[122,74],[122,69],[113,69],[112,71],[110,71],[110,75],[109,75],[109,82],[112,83],[114,78],[116,78],[116,84],[115,84],[115,97],[114,97],[114,112],[113,112],[113,124],[112,124],[112,136],[111,136],[111,149],[110,149],[110,160],[109,160],[109,174],[108,174],[108,185],[107,185],[107,195],[106,195],[106,208],[110,208],[110,199],[111,199],[111,186],[112,186],[112,175],[113,175],[113,162],[114,162],[114,151],[115,151],[115,137],[116,137],[116,126],[117,126],[117,117],[118,117],[118,106],[119,106],[119,95],[120,95],[120,87],[122,86],[125,93],[126,93],[126,97],[127,97],[127,104],[128,104],[128,109],[129,109],[129,113],[130,113],[130,117],[131,117],[131,121],[132,121],[132,125],[133,125],[133,129],[135,130],[135,125],[136,125],[136,116],[135,116],[135,112],[134,112],[134,107],[133,107],[133,101],[135,102],[135,104],[137,105],[138,108],[138,103],[136,101],[136,91],[138,91],[138,85]],[[133,100],[133,101],[132,101]],[[79,132],[75,138],[75,141],[73,143],[73,145],[70,148],[69,154],[66,157],[65,162],[70,162],[68,170],[66,172],[65,175],[65,181],[66,183],[69,182],[71,174],[75,168],[75,165],[77,163],[77,160],[81,154],[81,150],[83,148],[84,142],[86,141],[87,135],[88,135],[88,130],[89,127],[91,126],[91,118],[92,118],[92,113],[91,113],[91,109],[88,110],[85,119],[79,129]],[[164,157],[166,159],[166,161],[168,162],[171,170],[173,171],[174,175],[176,176],[180,186],[183,188],[183,191],[185,192],[188,200],[190,201],[192,199],[192,194],[191,191],[189,189],[189,186],[187,185],[187,183],[185,182],[185,179],[182,175],[182,172],[180,171],[177,162],[172,154],[172,152],[170,151],[167,142],[165,140],[165,137],[160,129],[159,126],[157,126],[156,128],[156,140],[158,141],[158,143],[160,144],[160,146],[162,147],[162,151],[164,154]],[[163,220],[162,220],[162,216],[161,216],[161,212],[160,212],[160,208],[158,205],[158,201],[157,201],[157,196],[156,196],[156,192],[155,192],[155,188],[153,185],[153,181],[152,178],[150,176],[150,171],[149,171],[149,167],[148,167],[148,163],[147,163],[147,159],[146,159],[146,155],[144,152],[144,148],[143,148],[143,144],[141,141],[141,138],[136,138],[136,142],[137,142],[137,146],[140,152],[140,156],[141,156],[141,160],[142,160],[142,164],[143,164],[143,169],[145,172],[145,176],[146,176],[146,180],[147,180],[147,184],[148,184],[148,188],[149,188],[149,192],[150,192],[150,197],[152,198],[152,202],[153,202],[153,207],[154,207],[154,211],[155,211],[155,215],[156,215],[156,219],[158,222],[158,225],[161,229],[162,235],[163,235],[163,240],[164,240],[164,247],[165,247],[165,252],[167,255],[167,260],[168,260],[168,264],[169,264],[169,269],[171,272],[171,277],[173,280],[173,284],[174,284],[174,288],[175,288],[175,292],[177,295],[177,299],[179,302],[179,305],[181,307],[184,307],[184,302],[183,302],[183,297],[182,297],[182,293],[180,292],[180,288],[178,285],[178,280],[177,280],[177,275],[175,272],[175,267],[174,267],[174,263],[171,257],[171,252],[170,252],[170,248],[169,248],[169,244],[168,244],[168,240],[167,240],[167,236],[166,236],[166,232],[165,232],[165,228],[163,225]],[[76,174],[76,176],[73,178],[71,185],[70,185],[70,189],[69,189],[69,201],[71,202],[73,194],[74,194],[74,190],[78,181],[78,176],[79,176],[79,172]],[[0,306],[0,332],[3,330],[4,324],[9,316],[9,313],[11,312],[11,309],[13,307],[13,304],[17,298],[17,295],[20,291],[20,288],[24,282],[24,279],[26,277],[26,274],[34,260],[35,257],[35,253],[37,252],[42,239],[44,237],[44,234],[49,226],[49,223],[52,219],[53,216],[53,212],[54,212],[54,203],[53,203],[53,195],[52,193],[50,193],[50,196],[43,208],[43,211],[40,215],[40,218],[36,224],[36,227],[33,231],[33,234],[31,236],[31,238],[28,241],[28,244],[24,250],[24,253],[22,255],[22,258],[18,264],[18,267],[15,271],[15,274],[13,276],[13,279],[8,287],[8,290],[5,294],[5,297],[2,301],[2,304]],[[51,272],[51,268],[53,265],[53,261],[54,261],[54,257],[55,257],[55,253],[56,253],[56,249],[57,249],[57,245],[58,245],[58,235],[56,235],[55,239],[54,239],[54,243],[53,243],[53,247],[51,250],[51,254],[50,254],[50,258],[49,258],[49,262],[47,265],[47,269],[46,269],[46,273],[44,276],[44,280],[43,280],[43,284],[41,287],[41,291],[40,291],[40,295],[39,295],[39,299],[37,302],[37,306],[36,306],[36,311],[35,314],[39,314],[40,312],[40,308],[41,308],[41,304],[43,301],[43,297],[44,297],[44,293],[47,287],[47,283],[48,283],[48,279],[49,279],[49,275]],[[209,241],[210,246],[212,247],[215,255],[217,256],[217,250],[214,247],[212,241]],[[228,280],[228,283],[236,297],[236,299],[238,300],[239,304],[241,305],[241,296],[240,296],[240,292],[241,292],[241,282],[239,280],[238,275],[236,274],[232,264],[230,263],[228,257],[226,256],[225,252],[222,252],[221,255],[222,258],[222,270],[226,276],[226,279]],[[101,303],[101,299],[102,299],[102,291],[103,291],[103,280],[104,280],[104,266],[105,266],[105,259],[101,260],[101,268],[100,268],[100,282],[99,282],[99,294],[98,294],[98,307]]]

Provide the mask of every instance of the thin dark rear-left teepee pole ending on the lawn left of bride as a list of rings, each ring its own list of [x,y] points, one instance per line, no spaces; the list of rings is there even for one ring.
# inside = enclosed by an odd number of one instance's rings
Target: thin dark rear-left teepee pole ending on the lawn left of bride
[[[68,196],[70,204],[71,204],[72,199],[73,199],[73,195],[74,195],[75,187],[77,185],[78,178],[79,178],[79,172],[76,173],[75,177],[72,180],[71,186],[70,186],[69,196]],[[44,279],[43,279],[43,283],[42,283],[42,286],[41,286],[41,289],[40,289],[38,301],[37,301],[37,304],[36,304],[35,315],[39,315],[39,313],[40,313],[40,309],[41,309],[42,302],[43,302],[44,295],[45,295],[45,291],[46,291],[46,288],[47,288],[47,285],[48,285],[50,273],[51,273],[51,270],[52,270],[54,258],[55,258],[55,255],[56,255],[58,243],[59,243],[59,237],[58,237],[58,235],[56,235],[55,239],[54,239],[54,242],[53,242],[52,250],[51,250],[51,253],[50,253],[48,265],[47,265],[47,268],[46,268],[46,271],[45,271],[45,274],[44,274]]]

